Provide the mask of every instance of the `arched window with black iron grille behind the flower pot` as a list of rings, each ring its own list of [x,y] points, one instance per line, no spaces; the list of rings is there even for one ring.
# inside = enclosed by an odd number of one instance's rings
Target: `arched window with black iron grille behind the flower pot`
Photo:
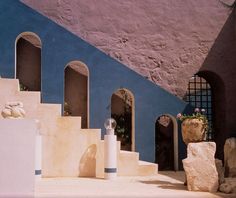
[[[214,133],[212,130],[212,90],[210,84],[204,78],[194,75],[189,80],[188,90],[184,96],[184,100],[195,108],[205,109],[209,123],[207,139],[212,140]]]

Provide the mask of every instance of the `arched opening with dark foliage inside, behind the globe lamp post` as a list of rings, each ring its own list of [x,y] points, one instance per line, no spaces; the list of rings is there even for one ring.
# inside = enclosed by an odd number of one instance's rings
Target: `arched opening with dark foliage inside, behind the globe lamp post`
[[[129,90],[122,88],[112,94],[111,117],[117,122],[115,133],[121,149],[134,151],[134,96]]]

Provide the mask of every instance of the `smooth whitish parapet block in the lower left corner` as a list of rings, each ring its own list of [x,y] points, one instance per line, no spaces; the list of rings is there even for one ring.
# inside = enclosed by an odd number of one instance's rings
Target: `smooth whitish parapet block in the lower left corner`
[[[35,139],[32,119],[0,120],[0,197],[34,197]]]

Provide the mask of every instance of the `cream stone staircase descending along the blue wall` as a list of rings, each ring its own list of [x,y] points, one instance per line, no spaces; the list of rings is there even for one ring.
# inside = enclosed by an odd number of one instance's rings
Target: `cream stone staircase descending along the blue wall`
[[[104,176],[100,129],[81,129],[81,117],[61,116],[60,104],[40,103],[40,92],[20,91],[17,79],[0,78],[0,90],[0,110],[7,102],[21,101],[26,117],[40,121],[43,177]],[[157,173],[157,164],[139,161],[139,153],[120,150],[120,142],[117,147],[118,175]]]

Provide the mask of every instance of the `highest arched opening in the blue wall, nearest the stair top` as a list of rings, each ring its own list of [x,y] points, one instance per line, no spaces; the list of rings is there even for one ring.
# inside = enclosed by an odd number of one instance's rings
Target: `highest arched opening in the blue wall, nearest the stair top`
[[[40,38],[32,32],[24,32],[16,38],[15,77],[23,91],[41,91]]]

